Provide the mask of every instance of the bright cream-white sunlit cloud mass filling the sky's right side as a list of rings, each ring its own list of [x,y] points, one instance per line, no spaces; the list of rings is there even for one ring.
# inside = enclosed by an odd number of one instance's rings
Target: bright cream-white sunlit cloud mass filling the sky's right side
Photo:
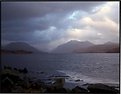
[[[119,9],[116,5],[119,5],[119,3],[106,3],[98,6],[96,12],[93,10],[93,13],[77,19],[75,21],[76,26],[69,29],[68,35],[74,39],[89,40],[95,43],[119,42],[119,22],[114,20],[114,18],[118,19],[119,16],[115,15],[112,18],[110,15],[116,13],[112,11],[114,8]]]

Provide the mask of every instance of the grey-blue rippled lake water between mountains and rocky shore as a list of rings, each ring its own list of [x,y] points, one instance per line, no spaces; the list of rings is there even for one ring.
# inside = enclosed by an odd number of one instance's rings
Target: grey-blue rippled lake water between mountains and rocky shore
[[[63,73],[85,82],[119,83],[117,53],[2,55],[2,65],[27,67],[38,77],[44,71],[45,75]]]

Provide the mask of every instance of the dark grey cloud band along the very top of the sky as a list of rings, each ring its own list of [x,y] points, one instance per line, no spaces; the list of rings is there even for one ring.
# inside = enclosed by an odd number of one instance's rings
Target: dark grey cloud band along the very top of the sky
[[[43,17],[50,13],[65,13],[74,10],[90,11],[100,2],[2,2],[2,20]]]

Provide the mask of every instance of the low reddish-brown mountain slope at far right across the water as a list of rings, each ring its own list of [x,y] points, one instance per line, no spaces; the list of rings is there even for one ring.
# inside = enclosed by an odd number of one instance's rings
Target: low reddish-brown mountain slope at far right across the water
[[[74,52],[81,53],[81,52],[87,52],[87,53],[118,53],[119,52],[119,44],[107,42],[100,45],[93,45],[88,48],[83,49],[76,49]]]

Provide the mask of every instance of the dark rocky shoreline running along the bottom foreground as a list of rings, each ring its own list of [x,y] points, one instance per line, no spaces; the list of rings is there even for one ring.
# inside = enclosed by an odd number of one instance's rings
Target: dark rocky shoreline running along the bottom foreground
[[[42,74],[44,72],[41,72]],[[67,76],[54,76],[48,79],[32,79],[28,70],[4,67],[1,74],[2,93],[109,93],[119,94],[119,86],[106,85],[103,83],[83,84],[70,89],[64,87]],[[78,82],[80,80],[76,80]]]

